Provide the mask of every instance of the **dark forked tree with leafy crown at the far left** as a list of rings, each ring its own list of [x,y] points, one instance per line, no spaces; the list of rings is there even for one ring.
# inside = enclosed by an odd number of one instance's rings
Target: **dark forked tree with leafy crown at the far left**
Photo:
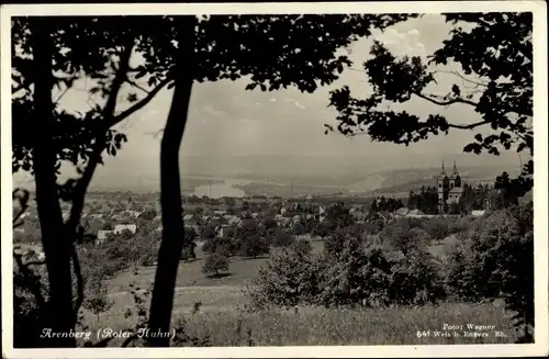
[[[34,175],[49,285],[49,307],[45,312],[54,314],[47,325],[56,332],[74,329],[83,301],[75,250],[77,227],[103,153],[115,155],[126,139],[112,127],[142,109],[167,85],[165,80],[145,90],[132,80],[130,57],[139,45],[134,24],[127,18],[109,16],[12,19],[12,167],[14,172]],[[99,93],[102,100],[91,109],[69,113],[58,105],[58,100],[83,78],[96,82],[89,92]],[[123,86],[147,93],[139,99],[131,92],[128,100],[133,104],[116,112]],[[54,100],[55,88],[59,93]],[[72,165],[79,178],[59,183],[61,164]],[[67,221],[63,220],[59,200],[71,202]],[[75,302],[71,262],[78,283]],[[67,347],[75,340],[53,338],[48,345]]]

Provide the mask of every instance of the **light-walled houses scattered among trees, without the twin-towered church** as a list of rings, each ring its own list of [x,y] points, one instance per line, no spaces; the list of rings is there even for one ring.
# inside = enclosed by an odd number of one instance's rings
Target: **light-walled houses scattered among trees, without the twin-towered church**
[[[248,205],[249,204],[249,205]],[[236,227],[240,226],[245,220],[257,220],[262,221],[265,218],[272,218],[279,227],[289,228],[298,223],[305,223],[307,221],[323,222],[326,220],[327,211],[330,206],[329,203],[318,203],[314,202],[311,198],[303,198],[294,201],[250,201],[246,203],[246,209],[235,210],[234,207],[227,206],[208,206],[204,204],[198,204],[186,206],[186,213],[183,215],[183,222],[186,227],[192,227],[198,235],[203,234],[205,228],[215,231],[214,236],[226,237],[229,236]],[[130,206],[130,205],[128,205]],[[119,235],[126,232],[130,235],[135,235],[139,229],[139,226],[147,225],[154,228],[154,232],[161,232],[161,216],[156,214],[154,217],[147,216],[144,218],[145,204],[139,204],[138,207],[142,211],[135,210],[135,203],[132,207],[124,207],[123,205],[117,205],[115,211],[97,211],[93,209],[87,209],[82,213],[83,222],[96,222],[100,226],[91,229],[88,233],[89,236],[93,238],[96,244],[102,244],[110,238],[111,235]],[[158,206],[155,207],[158,211]],[[348,207],[348,213],[355,218],[356,223],[365,223],[371,217],[370,211],[363,204],[351,204]],[[158,212],[157,212],[158,213]],[[483,215],[484,211],[473,211],[472,215],[480,216]],[[64,209],[63,215],[68,218],[69,211]],[[430,217],[434,215],[426,215],[419,210],[410,210],[407,207],[401,207],[393,213],[379,214],[383,218],[392,220],[396,217]],[[22,216],[23,220],[35,220],[36,213],[33,211],[25,212]],[[110,223],[109,226],[105,226]],[[20,234],[24,233],[24,228],[15,228],[14,232]],[[87,231],[90,231],[89,228]],[[37,254],[42,251],[33,248]]]

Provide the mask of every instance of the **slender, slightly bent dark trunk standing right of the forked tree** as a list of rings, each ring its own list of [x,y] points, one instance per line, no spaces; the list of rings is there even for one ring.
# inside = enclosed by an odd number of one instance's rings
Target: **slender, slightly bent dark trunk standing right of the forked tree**
[[[160,204],[163,240],[158,250],[153,300],[149,312],[152,333],[169,333],[177,270],[184,245],[179,149],[183,137],[192,82],[194,80],[194,16],[184,16],[178,33],[175,90],[160,145]],[[169,338],[148,338],[148,345],[169,346]]]

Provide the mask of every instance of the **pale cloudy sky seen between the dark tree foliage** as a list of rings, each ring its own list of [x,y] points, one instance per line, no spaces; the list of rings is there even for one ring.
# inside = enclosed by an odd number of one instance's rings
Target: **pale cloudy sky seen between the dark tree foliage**
[[[336,123],[334,119],[337,113],[327,108],[330,89],[348,85],[355,97],[370,93],[366,75],[360,69],[369,57],[373,41],[381,41],[395,55],[425,57],[441,46],[442,41],[449,37],[450,30],[451,24],[447,24],[441,15],[426,14],[384,32],[376,31],[372,36],[361,38],[350,46],[349,57],[355,63],[355,70],[346,69],[338,81],[330,87],[320,88],[312,94],[301,93],[294,88],[274,92],[246,91],[245,80],[195,82],[181,155],[208,156],[217,160],[246,155],[322,156],[326,161],[358,156],[366,159],[381,158],[394,167],[410,167],[411,162],[418,161],[418,166],[438,166],[442,159],[451,162],[453,154],[461,153],[475,132],[453,131],[447,136],[438,135],[410,147],[373,143],[368,136],[348,138],[338,133],[324,134],[325,123]],[[449,64],[448,69],[459,68]],[[439,88],[429,90],[439,94],[442,93],[440,91],[447,91],[451,83],[461,83],[459,78],[450,75],[437,77],[437,81]],[[67,92],[60,100],[63,108],[77,110],[86,106],[86,83],[77,83],[75,87],[77,90]],[[144,176],[158,172],[159,131],[165,125],[171,97],[171,90],[163,90],[148,105],[117,126],[127,134],[128,143],[115,158],[105,161],[104,168],[99,169],[97,176],[116,176],[128,169]],[[479,121],[478,115],[462,104],[445,109],[413,98],[400,110],[403,109],[419,116],[439,113],[459,124]],[[502,161],[515,164],[517,155],[504,158],[470,156],[472,161],[485,165]],[[215,166],[213,159],[212,166]],[[183,170],[192,171],[192,168],[186,168],[184,161],[182,167]]]

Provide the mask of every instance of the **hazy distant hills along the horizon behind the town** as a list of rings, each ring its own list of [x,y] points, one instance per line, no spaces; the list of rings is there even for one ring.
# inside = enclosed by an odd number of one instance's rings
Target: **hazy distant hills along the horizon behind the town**
[[[516,155],[516,154],[515,154]],[[442,156],[442,155],[439,155]],[[374,156],[182,156],[181,181],[184,192],[194,187],[205,184],[209,180],[243,179],[249,182],[268,182],[294,189],[306,188],[306,192],[346,192],[365,193],[373,191],[410,191],[422,186],[434,184],[434,178],[439,172],[436,155],[408,155],[410,165],[402,165],[403,159]],[[494,180],[506,170],[516,175],[518,164],[514,162],[513,154],[507,157],[483,157],[469,154],[444,155],[447,160],[456,160],[461,176],[470,182]],[[435,166],[436,167],[435,167]],[[449,166],[448,166],[449,165]],[[447,169],[451,169],[451,164]],[[149,166],[150,167],[150,166]],[[514,169],[514,171],[513,171]],[[194,179],[192,179],[195,177]],[[14,186],[34,188],[33,177],[26,173],[13,176]],[[276,184],[274,184],[276,183]],[[158,168],[145,170],[134,162],[100,167],[90,189],[102,191],[158,191]],[[258,189],[260,190],[260,189]]]

